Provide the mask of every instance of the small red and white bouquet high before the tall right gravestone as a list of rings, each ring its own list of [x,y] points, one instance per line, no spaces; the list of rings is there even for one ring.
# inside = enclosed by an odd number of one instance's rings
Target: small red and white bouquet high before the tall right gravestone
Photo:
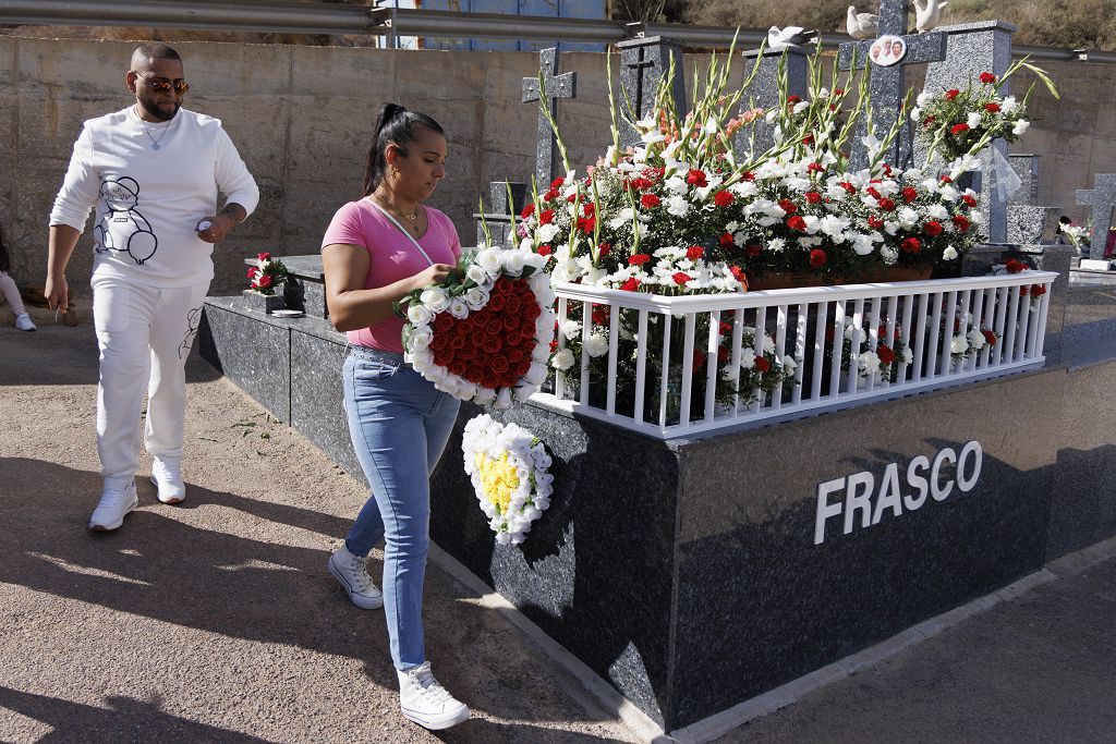
[[[1001,96],[1000,89],[1023,68],[1033,71],[1058,98],[1058,90],[1046,73],[1026,59],[1012,64],[999,77],[981,73],[977,80],[970,78],[963,89],[920,94],[917,105],[911,110],[911,119],[916,125],[920,141],[930,149],[931,158],[939,155],[946,162],[954,161],[975,155],[995,138],[1009,143],[1019,139],[1030,126],[1026,114],[1035,84],[1022,102],[1014,96]]]

